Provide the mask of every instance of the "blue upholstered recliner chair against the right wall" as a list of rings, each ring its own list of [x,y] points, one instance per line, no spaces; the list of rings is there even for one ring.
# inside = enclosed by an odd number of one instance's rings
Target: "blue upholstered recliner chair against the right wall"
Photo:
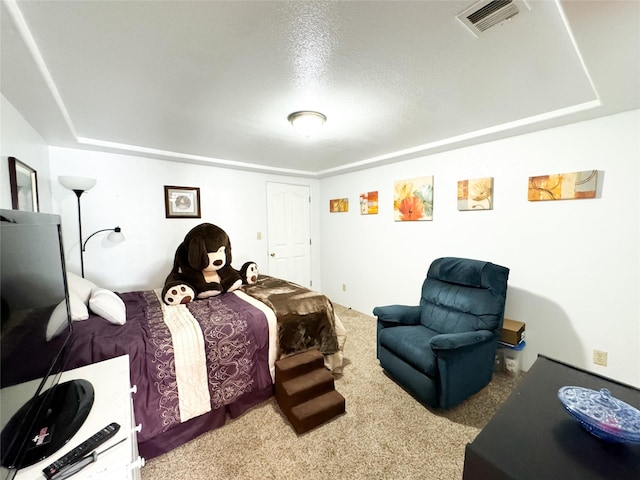
[[[509,269],[490,262],[434,260],[420,305],[376,307],[380,365],[422,403],[451,408],[493,375]]]

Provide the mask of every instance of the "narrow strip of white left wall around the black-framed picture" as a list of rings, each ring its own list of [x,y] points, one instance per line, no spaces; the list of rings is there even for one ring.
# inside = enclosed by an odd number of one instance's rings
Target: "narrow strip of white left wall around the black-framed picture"
[[[11,209],[8,157],[15,157],[33,168],[38,176],[41,212],[51,213],[49,189],[49,149],[42,137],[29,125],[9,101],[0,95],[0,208]]]

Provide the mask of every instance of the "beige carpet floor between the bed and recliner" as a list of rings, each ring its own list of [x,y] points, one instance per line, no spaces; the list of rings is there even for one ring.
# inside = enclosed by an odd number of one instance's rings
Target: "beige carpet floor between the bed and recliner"
[[[380,368],[375,318],[339,305],[336,312],[347,329],[336,378],[344,415],[298,436],[271,398],[150,460],[142,479],[461,479],[465,445],[519,378],[498,373],[458,407],[426,408]]]

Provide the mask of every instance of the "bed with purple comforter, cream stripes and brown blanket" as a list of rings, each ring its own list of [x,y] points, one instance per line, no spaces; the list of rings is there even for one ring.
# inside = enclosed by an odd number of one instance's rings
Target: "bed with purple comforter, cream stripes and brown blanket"
[[[89,300],[90,312],[102,315],[73,323],[68,351],[68,369],[129,355],[139,450],[147,459],[271,397],[278,358],[317,348],[329,369],[341,371],[346,332],[324,295],[266,275],[185,305],[167,306],[160,295],[118,293],[124,321],[91,309]]]

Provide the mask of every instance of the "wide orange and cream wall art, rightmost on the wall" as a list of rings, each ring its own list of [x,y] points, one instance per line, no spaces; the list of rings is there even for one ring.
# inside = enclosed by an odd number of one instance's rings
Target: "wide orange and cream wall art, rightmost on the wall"
[[[529,201],[595,198],[597,170],[529,177]]]

